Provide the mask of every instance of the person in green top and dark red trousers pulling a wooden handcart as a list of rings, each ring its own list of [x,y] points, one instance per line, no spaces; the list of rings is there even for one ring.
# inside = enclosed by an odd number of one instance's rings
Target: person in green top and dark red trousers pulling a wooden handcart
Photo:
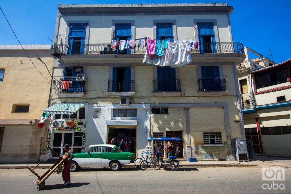
[[[68,184],[71,184],[71,175],[70,175],[70,168],[72,166],[72,159],[74,158],[73,151],[69,149],[69,145],[65,144],[64,149],[65,149],[65,156],[67,159],[64,162],[64,169],[62,172],[63,180],[65,183],[62,186],[67,186]]]

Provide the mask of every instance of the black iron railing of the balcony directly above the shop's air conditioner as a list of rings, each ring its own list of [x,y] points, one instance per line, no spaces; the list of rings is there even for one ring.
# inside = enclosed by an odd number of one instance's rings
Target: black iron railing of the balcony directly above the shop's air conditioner
[[[128,81],[108,80],[108,92],[134,92],[134,80]]]

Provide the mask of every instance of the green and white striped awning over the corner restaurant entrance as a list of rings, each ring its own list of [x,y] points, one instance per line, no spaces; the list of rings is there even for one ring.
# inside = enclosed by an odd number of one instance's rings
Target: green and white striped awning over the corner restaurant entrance
[[[84,106],[84,104],[60,103],[55,104],[49,108],[46,108],[45,110],[42,111],[42,113],[71,115],[78,111],[79,108],[81,108],[82,106]]]

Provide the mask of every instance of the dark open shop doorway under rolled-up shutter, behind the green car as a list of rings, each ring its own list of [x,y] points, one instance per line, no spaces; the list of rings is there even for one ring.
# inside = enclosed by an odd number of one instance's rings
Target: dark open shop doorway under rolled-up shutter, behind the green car
[[[110,144],[111,139],[117,137],[119,142],[121,139],[125,140],[128,137],[130,145],[128,152],[136,153],[136,126],[129,127],[109,127],[107,143]]]

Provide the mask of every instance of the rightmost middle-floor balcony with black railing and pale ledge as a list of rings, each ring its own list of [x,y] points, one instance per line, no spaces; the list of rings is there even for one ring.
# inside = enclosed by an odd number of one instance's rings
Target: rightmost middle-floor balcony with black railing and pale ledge
[[[224,96],[227,94],[226,78],[198,79],[201,96]]]

